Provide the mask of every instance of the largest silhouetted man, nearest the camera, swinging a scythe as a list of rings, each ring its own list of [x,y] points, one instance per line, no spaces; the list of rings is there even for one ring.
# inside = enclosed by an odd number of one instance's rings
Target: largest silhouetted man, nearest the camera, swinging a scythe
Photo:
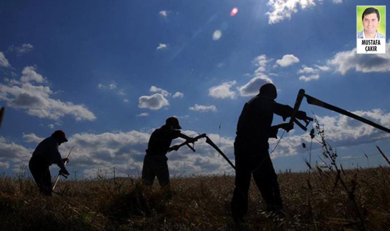
[[[278,129],[292,129],[288,123],[271,126],[274,113],[284,119],[290,117],[293,108],[275,102],[274,84],[264,84],[260,93],[245,103],[237,123],[235,147],[236,179],[231,201],[233,220],[241,223],[248,210],[248,190],[251,175],[259,188],[268,211],[282,209],[278,178],[268,153],[268,138],[277,138]],[[306,118],[303,111],[297,118]]]

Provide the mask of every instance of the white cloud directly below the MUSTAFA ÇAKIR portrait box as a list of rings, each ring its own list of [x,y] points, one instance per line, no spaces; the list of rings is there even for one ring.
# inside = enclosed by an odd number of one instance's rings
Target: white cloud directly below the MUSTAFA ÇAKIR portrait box
[[[386,43],[385,54],[356,54],[356,48],[338,52],[328,64],[336,71],[345,74],[350,69],[360,72],[387,72],[390,71],[390,41]]]

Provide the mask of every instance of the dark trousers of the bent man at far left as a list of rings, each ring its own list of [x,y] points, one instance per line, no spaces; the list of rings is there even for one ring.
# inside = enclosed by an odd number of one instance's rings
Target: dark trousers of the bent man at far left
[[[40,192],[46,196],[51,196],[52,185],[49,165],[41,158],[31,157],[28,167],[40,188]]]

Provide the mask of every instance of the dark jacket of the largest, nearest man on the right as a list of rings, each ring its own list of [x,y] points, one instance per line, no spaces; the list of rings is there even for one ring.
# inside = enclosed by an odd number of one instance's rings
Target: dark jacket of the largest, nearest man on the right
[[[293,108],[258,94],[245,103],[237,123],[235,149],[268,151],[268,138],[277,138],[278,128],[271,126],[274,113],[287,118]]]

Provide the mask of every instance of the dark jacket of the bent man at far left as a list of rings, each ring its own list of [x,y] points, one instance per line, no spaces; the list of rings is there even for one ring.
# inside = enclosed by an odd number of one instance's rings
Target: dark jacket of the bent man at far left
[[[32,156],[43,160],[48,166],[56,164],[61,169],[65,168],[60,151],[58,150],[58,141],[55,137],[46,138],[39,143],[32,153]]]

